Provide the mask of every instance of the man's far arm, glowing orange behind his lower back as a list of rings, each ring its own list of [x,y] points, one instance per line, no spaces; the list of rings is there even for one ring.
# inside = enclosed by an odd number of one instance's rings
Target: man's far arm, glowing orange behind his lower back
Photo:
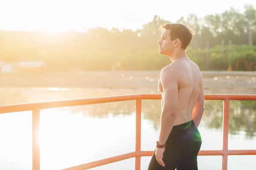
[[[204,113],[204,88],[202,86],[198,99],[195,103],[193,113],[192,113],[192,119],[195,122],[196,127],[199,126],[203,113]]]

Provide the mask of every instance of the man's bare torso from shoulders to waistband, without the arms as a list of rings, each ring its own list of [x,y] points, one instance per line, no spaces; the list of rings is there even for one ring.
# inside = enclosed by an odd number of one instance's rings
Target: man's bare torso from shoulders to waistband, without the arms
[[[178,77],[178,104],[174,125],[180,125],[192,120],[193,109],[197,102],[203,103],[202,99],[199,97],[200,93],[200,96],[204,96],[204,94],[202,94],[203,79],[198,65],[188,58],[176,60],[163,68],[162,71],[171,67],[179,68],[175,72]],[[161,79],[158,82],[158,90],[163,95]],[[161,103],[163,109],[163,99]]]

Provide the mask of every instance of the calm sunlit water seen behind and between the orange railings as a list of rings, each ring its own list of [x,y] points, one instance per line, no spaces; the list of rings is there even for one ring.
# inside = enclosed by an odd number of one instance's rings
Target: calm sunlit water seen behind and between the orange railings
[[[120,94],[151,89],[0,88],[0,105]],[[206,101],[198,128],[201,150],[222,148],[222,101]],[[135,101],[41,111],[41,170],[62,168],[135,151]],[[160,100],[143,100],[142,150],[154,150]],[[32,170],[31,112],[0,114],[0,170]],[[256,149],[256,102],[230,102],[229,149]],[[90,147],[94,143],[97,147]],[[146,170],[151,157],[141,158]],[[256,156],[229,156],[228,170],[253,169]],[[134,170],[135,158],[92,170]],[[199,170],[221,170],[221,156],[198,156]]]

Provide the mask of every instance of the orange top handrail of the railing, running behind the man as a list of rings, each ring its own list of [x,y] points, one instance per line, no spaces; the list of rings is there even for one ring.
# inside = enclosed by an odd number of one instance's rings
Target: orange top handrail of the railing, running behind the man
[[[121,102],[135,99],[161,99],[161,94],[128,94],[119,96],[93,97],[85,99],[70,99],[50,102],[36,102],[18,105],[0,106],[0,113],[12,113],[22,111],[32,111],[35,109],[62,108],[79,105],[91,105],[108,102]],[[226,95],[226,94],[205,94],[207,100],[256,100],[256,95]]]

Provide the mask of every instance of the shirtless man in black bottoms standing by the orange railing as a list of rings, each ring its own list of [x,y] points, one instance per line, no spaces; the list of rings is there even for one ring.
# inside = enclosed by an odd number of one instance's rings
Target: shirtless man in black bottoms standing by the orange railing
[[[202,140],[197,127],[204,112],[203,79],[198,65],[186,54],[194,33],[177,23],[160,28],[159,53],[169,56],[172,63],[160,73],[160,134],[148,170],[198,170]]]

